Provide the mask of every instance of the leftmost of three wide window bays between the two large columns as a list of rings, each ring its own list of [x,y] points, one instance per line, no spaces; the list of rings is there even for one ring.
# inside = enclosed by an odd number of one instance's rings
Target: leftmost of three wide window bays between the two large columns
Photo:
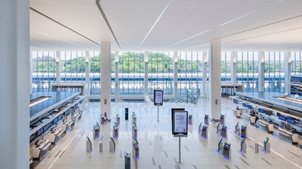
[[[119,95],[144,95],[143,52],[119,52]]]

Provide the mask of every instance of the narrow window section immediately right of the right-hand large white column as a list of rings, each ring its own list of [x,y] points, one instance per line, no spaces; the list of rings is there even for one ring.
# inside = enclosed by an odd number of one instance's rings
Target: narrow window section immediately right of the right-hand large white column
[[[231,52],[221,52],[221,82],[231,82]]]

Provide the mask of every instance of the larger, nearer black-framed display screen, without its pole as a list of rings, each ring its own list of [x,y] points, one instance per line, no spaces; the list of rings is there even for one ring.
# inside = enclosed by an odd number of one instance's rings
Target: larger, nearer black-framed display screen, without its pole
[[[188,112],[187,111],[174,111],[173,112],[173,132],[176,134],[188,135]]]

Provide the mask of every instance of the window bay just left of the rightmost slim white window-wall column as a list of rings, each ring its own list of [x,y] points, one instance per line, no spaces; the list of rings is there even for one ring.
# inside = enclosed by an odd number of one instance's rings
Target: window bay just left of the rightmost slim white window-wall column
[[[264,91],[284,92],[284,52],[264,52]]]

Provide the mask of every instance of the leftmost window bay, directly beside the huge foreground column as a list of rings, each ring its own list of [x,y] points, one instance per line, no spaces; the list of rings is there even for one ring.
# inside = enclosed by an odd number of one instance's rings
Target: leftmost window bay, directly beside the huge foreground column
[[[54,51],[32,52],[33,92],[51,91],[51,84],[56,81],[56,63]]]

